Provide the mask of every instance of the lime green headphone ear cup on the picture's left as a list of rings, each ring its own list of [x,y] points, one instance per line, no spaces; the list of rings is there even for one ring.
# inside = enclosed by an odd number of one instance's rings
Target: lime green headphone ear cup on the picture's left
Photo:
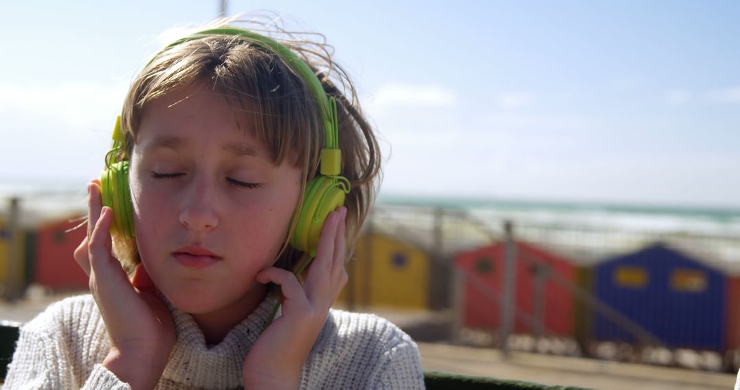
[[[129,190],[129,162],[111,164],[101,174],[100,183],[103,205],[110,207],[115,217],[111,231],[122,234],[126,239],[133,238],[134,213]]]

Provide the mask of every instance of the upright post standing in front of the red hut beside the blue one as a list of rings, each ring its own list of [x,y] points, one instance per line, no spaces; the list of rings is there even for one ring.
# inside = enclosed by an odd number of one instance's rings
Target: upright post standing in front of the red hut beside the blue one
[[[503,304],[501,305],[501,332],[499,333],[499,348],[504,357],[508,357],[508,336],[514,329],[514,287],[517,270],[517,243],[514,242],[514,227],[511,221],[504,222],[505,236],[505,264],[503,277]]]

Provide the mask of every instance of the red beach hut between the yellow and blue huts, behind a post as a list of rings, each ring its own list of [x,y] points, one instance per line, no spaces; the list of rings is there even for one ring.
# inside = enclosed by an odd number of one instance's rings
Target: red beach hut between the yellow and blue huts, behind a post
[[[534,244],[517,241],[515,246],[515,332],[572,335],[573,297],[565,286],[575,283],[576,267],[569,259]],[[497,242],[455,256],[456,266],[465,274],[463,326],[499,328],[505,253],[505,242]],[[539,324],[542,328],[537,329]]]

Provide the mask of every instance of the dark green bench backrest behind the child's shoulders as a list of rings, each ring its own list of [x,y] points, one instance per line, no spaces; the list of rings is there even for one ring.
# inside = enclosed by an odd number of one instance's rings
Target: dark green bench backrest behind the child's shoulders
[[[19,337],[19,325],[0,321],[0,383],[7,374],[7,365],[13,359],[13,350]],[[579,389],[569,386],[545,386],[518,380],[499,380],[492,377],[450,374],[447,372],[424,372],[427,389],[516,389],[516,390],[565,390]]]

